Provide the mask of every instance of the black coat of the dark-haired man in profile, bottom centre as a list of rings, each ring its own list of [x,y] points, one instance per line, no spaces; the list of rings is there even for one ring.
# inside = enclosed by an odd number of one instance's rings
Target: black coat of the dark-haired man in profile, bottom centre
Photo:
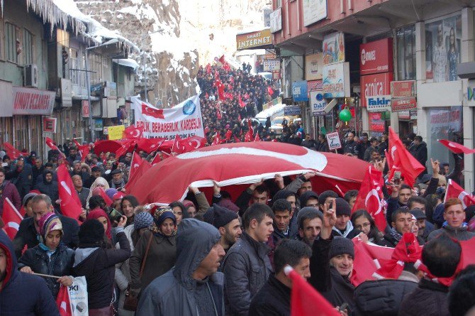
[[[250,316],[289,316],[290,291],[274,275],[257,292],[249,307]]]

